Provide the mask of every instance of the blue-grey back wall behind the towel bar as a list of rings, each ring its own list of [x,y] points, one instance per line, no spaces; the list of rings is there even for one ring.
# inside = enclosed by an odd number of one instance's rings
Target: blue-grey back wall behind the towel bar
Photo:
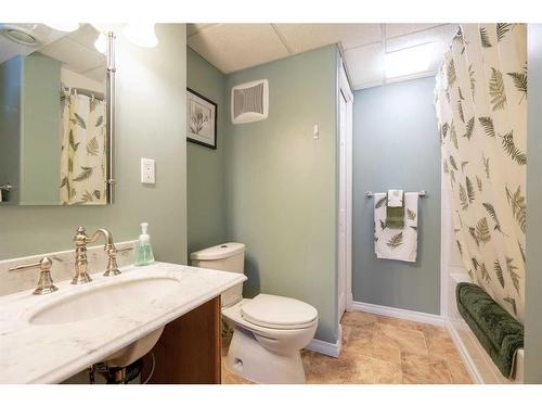
[[[439,314],[440,143],[434,78],[359,90],[353,97],[353,300]],[[418,202],[416,263],[377,259],[365,191],[427,190]]]

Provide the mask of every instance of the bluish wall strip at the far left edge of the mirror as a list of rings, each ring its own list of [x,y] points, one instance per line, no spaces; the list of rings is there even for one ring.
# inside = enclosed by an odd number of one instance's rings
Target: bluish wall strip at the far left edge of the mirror
[[[23,59],[14,56],[0,64],[0,186],[20,183],[21,157],[13,154],[21,148],[21,81]],[[4,198],[18,202],[18,189]],[[4,201],[1,205],[7,205]]]

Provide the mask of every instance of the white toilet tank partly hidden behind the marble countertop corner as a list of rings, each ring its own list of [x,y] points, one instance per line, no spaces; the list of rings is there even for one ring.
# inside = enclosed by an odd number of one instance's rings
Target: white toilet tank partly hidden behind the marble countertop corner
[[[234,242],[219,244],[192,253],[190,259],[194,267],[244,274],[245,245]],[[243,283],[228,289],[221,295],[222,307],[229,307],[241,300],[243,300]]]

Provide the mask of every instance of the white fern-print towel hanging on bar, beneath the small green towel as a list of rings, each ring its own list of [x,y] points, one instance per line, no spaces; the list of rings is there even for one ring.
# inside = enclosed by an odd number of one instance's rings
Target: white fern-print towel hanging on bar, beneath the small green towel
[[[404,193],[404,228],[386,227],[386,194],[374,194],[376,257],[415,262],[417,256],[417,192]]]

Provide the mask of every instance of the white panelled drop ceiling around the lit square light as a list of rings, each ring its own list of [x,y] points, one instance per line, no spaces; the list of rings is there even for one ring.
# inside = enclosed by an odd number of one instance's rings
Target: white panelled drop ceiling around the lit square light
[[[189,24],[189,46],[229,74],[338,43],[354,89],[434,75],[456,24]],[[429,69],[414,76],[384,77],[385,52],[433,42]]]

